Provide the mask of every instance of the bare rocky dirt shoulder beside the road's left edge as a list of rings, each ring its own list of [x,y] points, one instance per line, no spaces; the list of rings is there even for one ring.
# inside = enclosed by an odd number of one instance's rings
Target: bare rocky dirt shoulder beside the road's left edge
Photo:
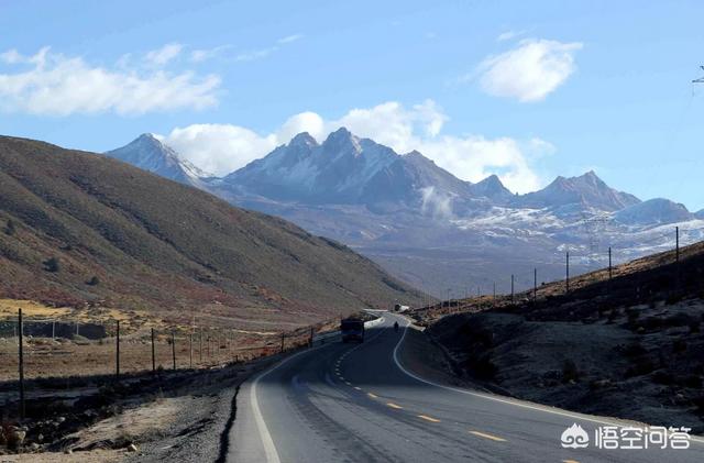
[[[215,461],[239,385],[279,357],[133,375],[120,384],[82,378],[82,389],[28,403],[33,418],[23,427],[3,420],[0,434],[19,429],[25,438],[19,448],[0,439],[0,461]]]

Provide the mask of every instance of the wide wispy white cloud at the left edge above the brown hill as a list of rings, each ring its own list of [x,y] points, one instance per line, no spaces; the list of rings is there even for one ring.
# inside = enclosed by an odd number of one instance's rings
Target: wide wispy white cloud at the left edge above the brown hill
[[[113,69],[92,66],[81,57],[52,53],[48,47],[32,56],[6,52],[3,59],[30,65],[0,71],[0,110],[7,112],[142,114],[184,108],[198,110],[218,102],[218,76],[197,77],[188,70],[129,70],[124,68],[129,57]]]

